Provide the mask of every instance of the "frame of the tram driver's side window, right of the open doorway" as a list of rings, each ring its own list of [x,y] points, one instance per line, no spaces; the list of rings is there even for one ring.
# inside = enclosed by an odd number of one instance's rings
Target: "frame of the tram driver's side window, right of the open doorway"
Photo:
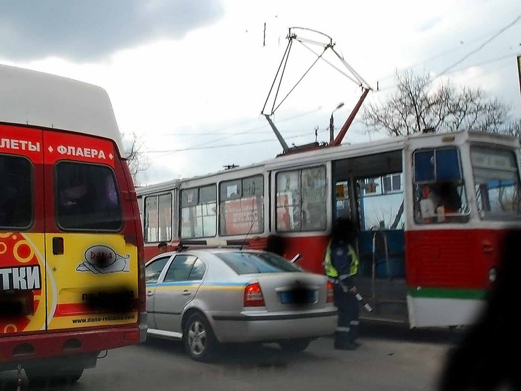
[[[442,180],[438,180],[438,151],[447,151],[454,150],[456,152],[456,159],[458,163],[458,177],[457,178],[449,178],[443,177]],[[431,152],[433,155],[433,177],[431,179],[423,179],[417,180],[417,164],[416,164],[416,156],[419,153]],[[417,225],[438,225],[438,224],[449,224],[449,223],[458,223],[458,224],[466,224],[470,221],[470,206],[469,200],[467,196],[467,191],[465,189],[465,178],[463,177],[463,165],[461,161],[461,149],[456,145],[450,146],[441,146],[441,147],[431,147],[431,148],[419,148],[413,151],[413,160],[412,160],[412,169],[413,169],[413,216],[414,221]],[[456,184],[456,191],[458,193],[458,197],[460,200],[460,208],[459,210],[465,210],[465,212],[461,213],[451,213],[440,215],[436,212],[437,207],[434,206],[433,211],[431,211],[431,216],[423,216],[422,209],[420,207],[420,201],[424,200],[429,196],[419,196],[422,193],[423,189],[420,190],[420,186],[432,186],[436,184]],[[432,191],[429,191],[429,194]],[[449,218],[446,218],[446,217]]]

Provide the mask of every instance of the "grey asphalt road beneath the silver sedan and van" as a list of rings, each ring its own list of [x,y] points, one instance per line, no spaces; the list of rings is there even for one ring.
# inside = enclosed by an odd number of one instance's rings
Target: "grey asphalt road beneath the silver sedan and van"
[[[276,345],[230,348],[212,364],[190,360],[180,342],[149,340],[110,351],[76,384],[22,390],[434,390],[454,337],[410,330],[365,332],[356,351],[336,351],[331,338],[297,355]],[[16,389],[16,372],[0,374],[0,391]]]

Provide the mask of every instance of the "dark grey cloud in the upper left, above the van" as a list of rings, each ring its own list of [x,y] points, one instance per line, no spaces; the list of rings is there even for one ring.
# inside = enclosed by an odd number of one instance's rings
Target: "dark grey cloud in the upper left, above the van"
[[[2,1],[0,53],[96,61],[117,49],[181,39],[222,15],[220,0]]]

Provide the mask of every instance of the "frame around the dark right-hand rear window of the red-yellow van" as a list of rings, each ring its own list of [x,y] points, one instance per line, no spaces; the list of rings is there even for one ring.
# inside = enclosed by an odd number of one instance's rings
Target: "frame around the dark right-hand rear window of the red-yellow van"
[[[63,218],[63,216],[60,216],[60,191],[63,189],[60,189],[60,184],[58,180],[58,176],[60,175],[58,173],[58,170],[61,166],[64,166],[65,164],[71,164],[76,165],[79,167],[96,167],[101,168],[104,170],[108,170],[110,173],[110,177],[113,179],[114,189],[117,196],[117,205],[118,205],[118,212],[119,212],[119,226],[117,228],[99,228],[99,227],[89,227],[89,228],[78,228],[78,227],[64,227],[63,221],[60,221],[60,218]],[[117,182],[117,177],[114,172],[114,169],[110,166],[107,166],[106,164],[96,164],[96,163],[87,163],[85,161],[73,161],[73,160],[60,160],[54,164],[54,221],[56,222],[56,225],[58,228],[63,232],[121,232],[124,227],[124,213],[123,213],[123,204],[122,204],[122,197],[119,189],[119,184]],[[78,216],[76,216],[76,219],[78,219]]]

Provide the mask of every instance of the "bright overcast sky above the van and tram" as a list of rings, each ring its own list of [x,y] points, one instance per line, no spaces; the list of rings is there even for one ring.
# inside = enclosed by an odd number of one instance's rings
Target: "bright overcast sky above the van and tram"
[[[290,26],[330,35],[373,88],[379,82],[382,91],[368,99],[385,99],[395,70],[439,74],[519,15],[519,0],[2,1],[0,63],[105,88],[120,129],[140,135],[149,151],[151,166],[140,182],[156,183],[281,152],[259,114]],[[504,99],[517,118],[519,54],[521,21],[447,77]],[[306,48],[294,45],[281,95],[314,60]],[[360,93],[352,81],[319,62],[274,119],[288,143],[314,141],[315,127],[318,140],[326,141],[331,111],[345,102],[335,113],[340,127]],[[345,142],[384,136],[368,134],[358,122]]]

